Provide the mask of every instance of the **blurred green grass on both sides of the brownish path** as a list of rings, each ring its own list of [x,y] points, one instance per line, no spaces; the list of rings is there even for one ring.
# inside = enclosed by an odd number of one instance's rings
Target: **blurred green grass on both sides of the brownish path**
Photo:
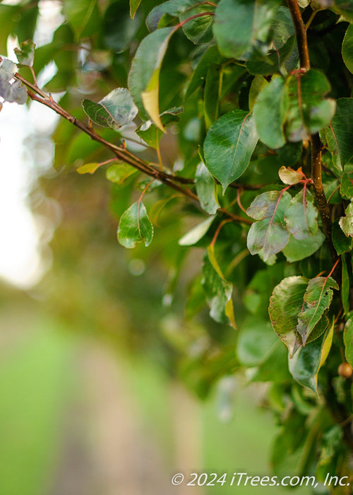
[[[1,495],[56,494],[52,490],[63,455],[65,417],[72,402],[83,400],[78,391],[89,394],[78,363],[87,337],[68,332],[50,318],[39,318],[30,325],[23,329],[25,338],[0,347]],[[107,356],[112,356],[109,345],[107,351]],[[126,352],[114,355],[130,395],[126,404],[137,409],[138,429],[148,432],[146,438],[160,451],[167,479],[176,472],[184,472],[186,477],[191,472],[227,472],[228,479],[234,472],[270,476],[268,458],[276,427],[253,404],[249,392],[237,389],[234,417],[222,423],[215,394],[198,402],[153,361]],[[194,492],[191,487],[186,489]],[[280,487],[227,484],[204,487],[198,493],[230,495],[234,490],[244,495],[288,493]],[[299,489],[295,493],[309,492]],[[156,495],[164,494],[156,491]]]

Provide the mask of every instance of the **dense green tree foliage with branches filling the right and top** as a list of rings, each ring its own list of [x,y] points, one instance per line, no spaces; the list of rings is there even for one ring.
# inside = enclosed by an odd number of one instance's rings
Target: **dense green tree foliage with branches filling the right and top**
[[[1,5],[1,51],[9,34],[21,42],[18,69],[1,64],[1,96],[23,104],[26,87],[63,117],[58,168],[115,162],[119,243],[169,252],[169,299],[183,266],[192,274],[187,325],[208,305],[218,327],[193,358],[192,332],[165,332],[181,378],[199,395],[243,371],[270,383],[275,472],[352,478],[352,2],[126,4],[64,1],[65,21],[37,49],[37,2]],[[49,91],[64,92],[60,105]]]

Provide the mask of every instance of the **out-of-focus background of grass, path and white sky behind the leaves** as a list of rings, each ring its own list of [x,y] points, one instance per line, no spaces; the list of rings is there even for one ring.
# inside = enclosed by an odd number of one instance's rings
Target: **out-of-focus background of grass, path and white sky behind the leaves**
[[[62,22],[60,2],[39,6],[37,46]],[[185,225],[161,215],[149,248],[122,248],[116,226],[132,182],[115,189],[100,171],[58,172],[57,124],[36,103],[0,114],[0,494],[284,493],[172,487],[177,472],[270,475],[279,426],[265,385],[225,376],[234,330],[207,310],[186,318],[203,250],[184,255]],[[70,144],[71,162],[86,144]],[[196,286],[194,306],[198,296]]]

